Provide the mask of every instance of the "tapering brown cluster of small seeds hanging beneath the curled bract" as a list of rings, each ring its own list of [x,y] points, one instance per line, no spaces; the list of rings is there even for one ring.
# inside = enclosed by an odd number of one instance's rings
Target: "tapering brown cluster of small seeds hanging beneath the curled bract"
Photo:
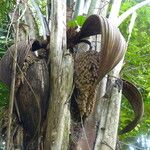
[[[98,70],[98,52],[89,50],[76,54],[74,80],[79,91],[76,101],[81,117],[89,116],[94,108]]]

